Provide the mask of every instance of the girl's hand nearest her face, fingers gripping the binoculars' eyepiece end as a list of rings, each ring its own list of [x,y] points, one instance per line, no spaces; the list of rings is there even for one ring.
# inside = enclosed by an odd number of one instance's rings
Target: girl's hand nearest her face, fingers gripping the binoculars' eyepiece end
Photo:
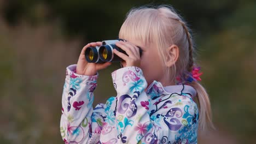
[[[115,43],[118,47],[120,47],[122,50],[124,50],[127,55],[125,55],[122,52],[119,52],[118,50],[113,50],[115,55],[119,56],[120,58],[124,59],[124,61],[121,62],[121,64],[124,67],[130,67],[130,66],[141,66],[141,57],[139,56],[139,48],[130,43],[129,41],[118,41]]]

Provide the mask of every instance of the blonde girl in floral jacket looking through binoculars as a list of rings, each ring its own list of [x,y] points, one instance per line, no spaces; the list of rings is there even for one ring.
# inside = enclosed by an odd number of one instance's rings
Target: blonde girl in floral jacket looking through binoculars
[[[113,71],[117,97],[92,109],[97,71],[84,52],[67,67],[60,131],[66,143],[197,143],[197,129],[212,125],[211,106],[200,85],[189,29],[168,5],[133,8],[116,43],[127,55]],[[139,57],[139,49],[143,50]],[[200,110],[195,100],[199,101]]]

